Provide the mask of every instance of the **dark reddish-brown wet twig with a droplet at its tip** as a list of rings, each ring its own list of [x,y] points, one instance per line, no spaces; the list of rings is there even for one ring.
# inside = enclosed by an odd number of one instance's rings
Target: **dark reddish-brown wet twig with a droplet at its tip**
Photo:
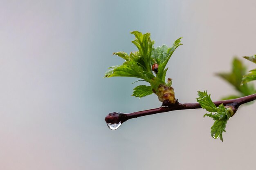
[[[238,109],[238,107],[241,104],[245,104],[248,102],[252,102],[256,100],[256,94],[248,95],[245,97],[240,97],[237,99],[230,99],[230,100],[223,100],[223,101],[217,101],[213,102],[216,106],[219,106],[220,104],[223,104],[224,106],[230,106],[234,113]],[[107,124],[118,124],[119,122],[124,123],[125,121],[137,118],[141,116],[147,116],[147,115],[153,115],[156,113],[165,113],[173,110],[186,110],[186,109],[196,109],[196,108],[202,108],[199,103],[184,103],[181,104],[179,102],[176,102],[175,104],[169,104],[168,102],[163,102],[162,106],[159,108],[153,108],[150,110],[142,110],[134,113],[109,113],[105,117],[105,121]]]

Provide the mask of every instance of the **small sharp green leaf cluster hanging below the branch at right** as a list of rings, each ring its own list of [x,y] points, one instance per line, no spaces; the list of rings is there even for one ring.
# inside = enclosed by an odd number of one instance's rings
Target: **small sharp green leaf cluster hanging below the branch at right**
[[[207,91],[201,92],[198,91],[197,102],[201,105],[202,108],[206,109],[211,113],[206,113],[204,115],[213,118],[215,120],[213,126],[211,126],[211,137],[217,139],[220,137],[220,140],[223,141],[222,132],[226,132],[225,127],[227,121],[233,111],[230,107],[225,107],[223,104],[220,104],[218,107],[211,100],[211,95],[207,94]]]

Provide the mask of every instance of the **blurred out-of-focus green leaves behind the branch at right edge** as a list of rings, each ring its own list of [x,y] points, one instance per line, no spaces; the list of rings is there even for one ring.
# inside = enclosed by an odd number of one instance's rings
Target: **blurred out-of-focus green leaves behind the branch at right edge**
[[[247,96],[255,93],[255,88],[253,84],[243,84],[241,86],[241,82],[243,79],[243,75],[247,72],[246,66],[243,64],[241,60],[238,58],[234,58],[232,62],[232,70],[229,73],[217,73],[219,77],[228,82],[231,86],[233,86],[236,91],[239,92],[239,95],[223,97],[224,99],[234,99],[234,97],[239,96]]]

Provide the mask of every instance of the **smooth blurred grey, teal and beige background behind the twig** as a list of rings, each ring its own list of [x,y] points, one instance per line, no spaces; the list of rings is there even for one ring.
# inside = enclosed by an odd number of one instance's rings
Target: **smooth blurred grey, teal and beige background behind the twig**
[[[112,131],[108,113],[161,103],[131,97],[137,79],[102,77],[123,62],[113,52],[136,50],[130,31],[139,30],[155,46],[184,37],[166,76],[180,102],[195,102],[198,90],[213,100],[233,94],[214,73],[256,54],[255,11],[254,0],[2,0],[0,170],[254,170],[256,104],[239,108],[223,143],[202,109]]]

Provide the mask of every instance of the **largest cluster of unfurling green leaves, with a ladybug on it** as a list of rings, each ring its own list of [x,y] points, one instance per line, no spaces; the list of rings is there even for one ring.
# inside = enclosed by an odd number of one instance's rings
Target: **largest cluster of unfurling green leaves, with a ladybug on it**
[[[110,67],[104,77],[137,77],[148,83],[150,86],[137,86],[134,89],[132,96],[144,97],[150,95],[153,91],[157,93],[159,86],[171,86],[171,81],[165,83],[166,67],[171,55],[175,49],[182,45],[180,39],[177,39],[171,48],[166,45],[153,47],[154,41],[150,39],[150,33],[142,34],[139,31],[132,31],[135,35],[135,40],[132,41],[137,47],[138,51],[131,52],[128,55],[125,52],[116,52],[113,55],[117,55],[125,60],[122,65]],[[152,66],[155,64],[152,71]],[[174,95],[174,93],[173,93]],[[158,96],[162,97],[162,96]]]

